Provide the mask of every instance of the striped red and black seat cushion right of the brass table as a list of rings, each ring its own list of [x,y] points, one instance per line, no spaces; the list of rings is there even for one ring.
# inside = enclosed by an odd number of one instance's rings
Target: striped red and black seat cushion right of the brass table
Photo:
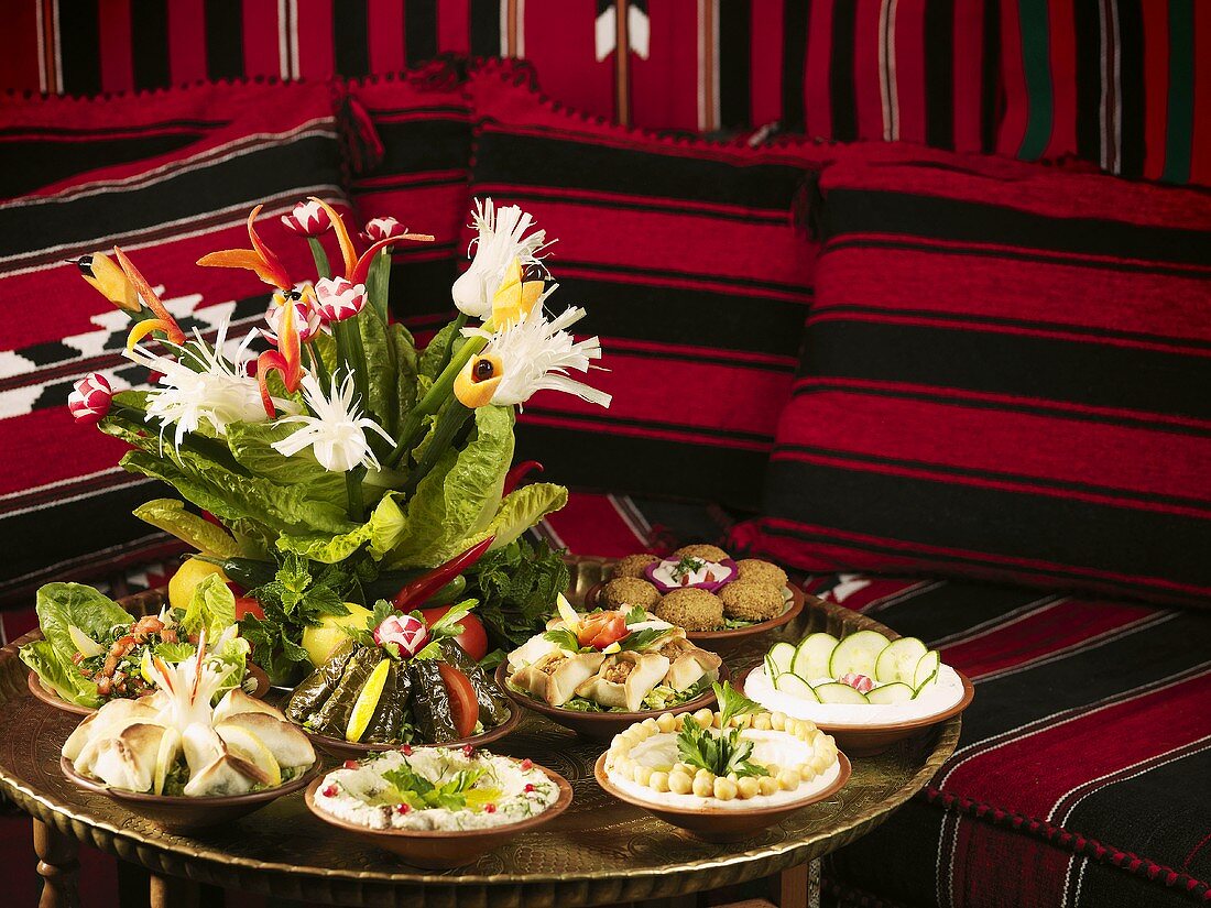
[[[840,904],[1211,898],[1211,615],[940,580],[809,590],[920,637],[976,688],[929,788],[831,858]]]

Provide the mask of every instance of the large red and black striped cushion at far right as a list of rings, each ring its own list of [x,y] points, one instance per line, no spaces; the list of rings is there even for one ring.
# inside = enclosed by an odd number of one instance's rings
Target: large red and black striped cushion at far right
[[[1211,194],[893,145],[820,188],[758,546],[1211,604]]]

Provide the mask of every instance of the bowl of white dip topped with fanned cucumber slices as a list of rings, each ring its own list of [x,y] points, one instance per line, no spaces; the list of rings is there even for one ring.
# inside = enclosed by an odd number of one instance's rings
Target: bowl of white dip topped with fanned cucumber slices
[[[859,755],[963,712],[974,694],[937,650],[878,631],[775,643],[740,684],[767,709],[810,719]]]

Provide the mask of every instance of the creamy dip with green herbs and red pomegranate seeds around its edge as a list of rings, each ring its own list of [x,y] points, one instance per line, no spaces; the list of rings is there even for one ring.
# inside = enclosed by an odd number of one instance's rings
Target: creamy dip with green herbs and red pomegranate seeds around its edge
[[[388,751],[325,776],[315,805],[369,829],[486,829],[541,814],[559,787],[529,760],[464,748]]]

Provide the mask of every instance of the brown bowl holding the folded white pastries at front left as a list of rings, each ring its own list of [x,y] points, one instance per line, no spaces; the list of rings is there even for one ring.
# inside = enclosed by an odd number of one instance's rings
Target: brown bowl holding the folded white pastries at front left
[[[320,760],[316,760],[311,769],[302,776],[283,782],[276,788],[216,798],[186,798],[184,795],[147,794],[114,788],[98,778],[90,778],[76,772],[71,760],[67,757],[59,758],[59,768],[68,781],[76,787],[94,794],[104,794],[131,814],[147,817],[160,828],[172,833],[189,833],[239,820],[270,801],[305,788],[322,771]]]

